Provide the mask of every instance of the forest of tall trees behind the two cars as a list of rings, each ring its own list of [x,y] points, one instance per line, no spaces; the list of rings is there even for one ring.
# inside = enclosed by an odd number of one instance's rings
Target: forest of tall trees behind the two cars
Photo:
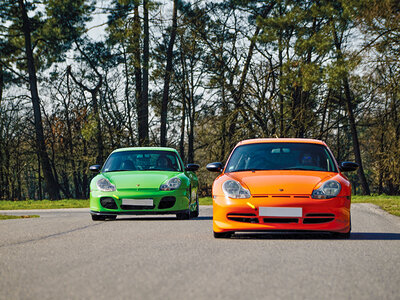
[[[399,79],[397,0],[3,0],[0,199],[87,198],[90,165],[146,145],[206,196],[258,137],[322,139],[355,194],[398,195]]]

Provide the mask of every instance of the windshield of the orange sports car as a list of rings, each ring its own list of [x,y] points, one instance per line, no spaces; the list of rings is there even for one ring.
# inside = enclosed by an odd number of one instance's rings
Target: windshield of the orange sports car
[[[237,147],[225,172],[256,170],[306,170],[337,172],[323,145],[310,143],[258,143]]]

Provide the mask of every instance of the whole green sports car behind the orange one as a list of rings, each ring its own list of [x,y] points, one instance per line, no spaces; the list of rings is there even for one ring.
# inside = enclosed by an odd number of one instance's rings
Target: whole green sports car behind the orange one
[[[172,148],[139,147],[113,151],[90,183],[90,214],[94,221],[117,215],[175,214],[178,219],[199,215],[199,165],[183,165]]]

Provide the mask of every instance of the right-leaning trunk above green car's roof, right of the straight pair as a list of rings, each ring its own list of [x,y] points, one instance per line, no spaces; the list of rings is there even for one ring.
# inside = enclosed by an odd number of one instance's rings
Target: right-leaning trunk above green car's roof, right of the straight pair
[[[161,128],[160,128],[161,147],[165,147],[167,145],[167,113],[168,113],[168,98],[169,98],[169,82],[172,73],[172,55],[174,50],[176,27],[177,27],[177,10],[178,10],[178,0],[174,0],[171,37],[169,39],[168,49],[167,49],[167,66],[165,68],[164,90],[161,103]]]

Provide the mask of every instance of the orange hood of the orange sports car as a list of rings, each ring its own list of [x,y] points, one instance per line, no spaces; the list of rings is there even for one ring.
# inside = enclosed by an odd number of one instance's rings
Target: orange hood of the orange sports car
[[[243,183],[252,195],[310,195],[322,180],[337,173],[317,171],[255,171],[225,175]]]

